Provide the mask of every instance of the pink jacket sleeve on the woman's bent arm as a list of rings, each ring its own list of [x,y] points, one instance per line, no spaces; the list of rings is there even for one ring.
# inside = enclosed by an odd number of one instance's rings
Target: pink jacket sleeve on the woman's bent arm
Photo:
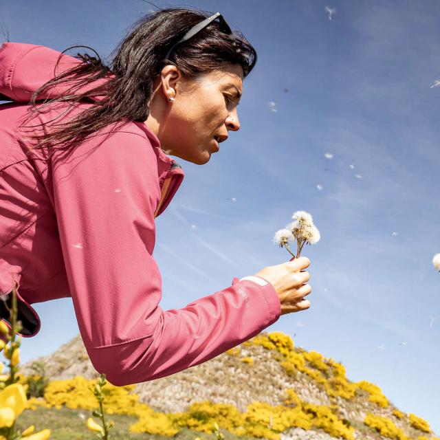
[[[160,198],[153,148],[142,135],[118,131],[90,144],[68,159],[57,151],[51,165],[72,301],[96,371],[116,386],[154,380],[206,362],[278,320],[274,287],[249,279],[162,310],[152,255]]]

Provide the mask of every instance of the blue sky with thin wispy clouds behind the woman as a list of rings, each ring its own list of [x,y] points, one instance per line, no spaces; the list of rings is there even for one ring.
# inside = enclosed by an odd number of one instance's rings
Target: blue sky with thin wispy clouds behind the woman
[[[322,237],[303,251],[311,308],[267,331],[342,362],[350,380],[377,384],[440,433],[440,274],[431,263],[440,252],[440,3],[157,4],[219,11],[259,54],[243,83],[240,131],[203,166],[176,158],[184,183],[156,221],[161,307],[288,261],[272,236],[307,210]],[[15,0],[0,3],[0,21],[11,41],[89,45],[106,57],[148,10],[141,0]],[[70,298],[34,306],[42,328],[23,338],[24,362],[79,332]]]

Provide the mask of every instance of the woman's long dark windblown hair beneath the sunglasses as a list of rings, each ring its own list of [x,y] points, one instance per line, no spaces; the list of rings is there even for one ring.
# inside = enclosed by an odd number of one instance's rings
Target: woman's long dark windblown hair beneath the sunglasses
[[[155,78],[167,64],[175,65],[186,78],[195,78],[198,74],[221,69],[229,64],[241,65],[243,77],[248,76],[256,63],[254,47],[241,32],[234,31],[239,47],[242,48],[242,51],[237,51],[237,47],[217,21],[212,21],[191,39],[177,45],[169,59],[164,60],[169,48],[193,25],[200,23],[209,15],[207,12],[189,8],[166,8],[146,14],[133,23],[131,31],[113,50],[111,68],[102,63],[95,51],[97,57],[78,53],[76,58],[83,61],[82,63],[55,76],[34,91],[29,102],[32,104],[29,109],[30,115],[25,122],[32,118],[34,113],[40,111],[40,108],[54,102],[68,101],[74,105],[75,102],[82,100],[93,105],[81,111],[76,118],[63,124],[56,124],[61,127],[56,131],[31,135],[30,137],[39,140],[32,149],[64,144],[61,147],[63,149],[71,143],[83,141],[85,137],[114,122],[145,121],[149,114],[148,105],[153,94]],[[248,52],[248,56],[243,53],[243,48]],[[64,52],[66,50],[62,54]],[[56,66],[60,58],[61,55]],[[109,79],[105,80],[106,78]],[[88,87],[88,90],[83,90],[82,93],[75,93],[79,87],[85,87],[96,80],[104,81],[101,81],[98,87]],[[72,85],[65,96],[46,99],[36,107],[36,98],[39,94],[62,84]],[[91,100],[89,96],[103,96],[103,98]]]

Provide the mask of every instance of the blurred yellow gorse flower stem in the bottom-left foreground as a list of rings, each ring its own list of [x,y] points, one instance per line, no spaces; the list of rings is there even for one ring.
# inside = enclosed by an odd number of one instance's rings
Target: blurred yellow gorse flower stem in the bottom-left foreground
[[[3,298],[2,298],[3,299]],[[3,351],[5,358],[9,360],[9,374],[0,375],[0,440],[47,440],[50,437],[50,429],[33,434],[35,426],[32,425],[20,432],[15,427],[17,417],[21,412],[28,408],[28,397],[26,391],[28,385],[22,385],[19,376],[20,362],[20,341],[21,336],[15,340],[16,333],[23,328],[21,321],[17,321],[17,283],[12,288],[12,305],[8,307],[5,301],[5,307],[9,311],[9,322],[11,328],[0,320],[0,351]],[[0,362],[0,373],[3,372],[4,365]]]

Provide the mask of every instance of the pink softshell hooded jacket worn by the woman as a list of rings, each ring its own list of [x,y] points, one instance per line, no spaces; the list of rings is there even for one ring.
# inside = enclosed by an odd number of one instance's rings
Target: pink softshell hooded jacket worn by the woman
[[[8,298],[17,282],[21,335],[39,332],[32,303],[71,296],[92,364],[122,386],[206,362],[276,322],[274,287],[252,276],[182,309],[159,306],[155,217],[184,171],[144,123],[127,121],[110,136],[106,127],[69,157],[61,150],[25,155],[30,141],[19,122],[59,54],[24,43],[0,47],[0,99],[14,101],[0,105],[0,296]],[[62,59],[56,73],[80,62]],[[39,98],[64,92],[58,86]],[[90,105],[51,104],[28,125]]]

